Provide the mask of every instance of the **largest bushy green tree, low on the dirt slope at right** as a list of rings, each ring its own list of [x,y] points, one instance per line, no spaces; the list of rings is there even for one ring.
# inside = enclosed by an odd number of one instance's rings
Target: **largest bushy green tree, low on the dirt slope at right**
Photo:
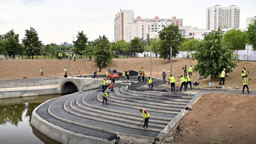
[[[218,28],[196,43],[197,51],[193,54],[193,60],[197,60],[197,64],[193,71],[199,72],[204,78],[211,76],[215,80],[219,78],[223,68],[226,73],[233,72],[232,68],[237,67],[237,64],[232,61],[232,46],[225,44],[222,39],[223,31]]]

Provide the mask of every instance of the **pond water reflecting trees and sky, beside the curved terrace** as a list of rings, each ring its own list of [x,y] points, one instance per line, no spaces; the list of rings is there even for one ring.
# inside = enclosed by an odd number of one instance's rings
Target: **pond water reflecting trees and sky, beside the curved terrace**
[[[58,142],[31,128],[30,121],[35,107],[48,99],[60,96],[62,95],[0,99],[0,143],[57,144]]]

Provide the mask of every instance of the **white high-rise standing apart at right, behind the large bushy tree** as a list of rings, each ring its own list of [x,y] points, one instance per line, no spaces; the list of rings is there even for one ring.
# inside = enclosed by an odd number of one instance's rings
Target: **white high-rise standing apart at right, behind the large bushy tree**
[[[216,5],[206,8],[206,29],[217,30],[218,27],[239,29],[240,7]]]

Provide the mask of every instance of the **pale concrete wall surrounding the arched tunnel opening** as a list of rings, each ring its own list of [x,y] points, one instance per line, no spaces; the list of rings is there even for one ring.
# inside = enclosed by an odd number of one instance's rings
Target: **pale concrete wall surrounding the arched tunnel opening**
[[[65,85],[72,82],[78,91],[89,90],[101,86],[102,79],[80,78],[80,77],[60,77],[60,93],[65,93]]]

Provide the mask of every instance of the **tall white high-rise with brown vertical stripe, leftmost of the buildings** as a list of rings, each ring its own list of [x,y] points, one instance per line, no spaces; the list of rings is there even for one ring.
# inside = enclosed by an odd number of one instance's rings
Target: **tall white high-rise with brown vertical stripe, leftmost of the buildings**
[[[126,26],[133,23],[133,10],[120,10],[114,18],[115,42],[126,40]]]

